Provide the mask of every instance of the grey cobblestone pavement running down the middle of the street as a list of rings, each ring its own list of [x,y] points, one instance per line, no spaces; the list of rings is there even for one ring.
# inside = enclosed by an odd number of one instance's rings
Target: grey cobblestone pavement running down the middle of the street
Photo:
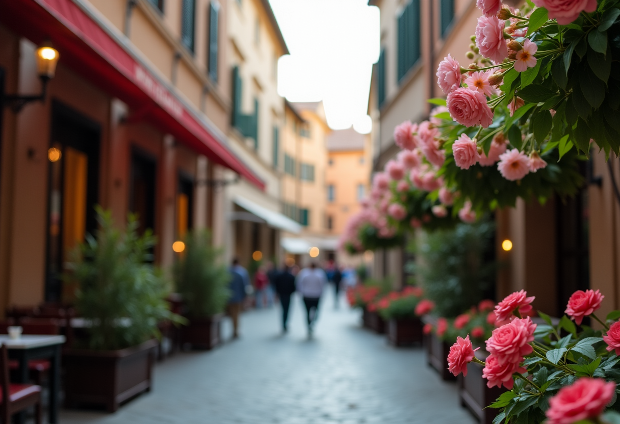
[[[63,410],[63,424],[472,424],[455,384],[441,382],[421,348],[396,349],[360,327],[343,299],[322,299],[314,338],[303,305],[247,312],[241,338],[158,363],[153,391],[114,414]],[[229,323],[224,330],[231,333]]]

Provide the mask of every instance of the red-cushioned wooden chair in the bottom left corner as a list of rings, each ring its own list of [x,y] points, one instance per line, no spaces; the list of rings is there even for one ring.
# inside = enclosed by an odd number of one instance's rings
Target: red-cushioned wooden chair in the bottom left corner
[[[41,386],[9,383],[9,355],[5,345],[0,347],[0,385],[2,389],[0,392],[2,422],[9,424],[14,413],[22,412],[24,409],[34,406],[35,423],[42,424]]]

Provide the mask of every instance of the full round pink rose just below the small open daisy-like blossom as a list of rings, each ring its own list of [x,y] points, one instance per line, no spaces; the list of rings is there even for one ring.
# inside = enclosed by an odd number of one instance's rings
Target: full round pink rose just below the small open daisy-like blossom
[[[461,125],[487,128],[493,122],[493,111],[481,92],[461,87],[448,94],[446,104],[450,116]]]

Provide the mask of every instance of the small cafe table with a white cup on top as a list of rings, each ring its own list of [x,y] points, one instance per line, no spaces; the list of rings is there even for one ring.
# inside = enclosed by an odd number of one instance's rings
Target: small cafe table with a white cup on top
[[[50,360],[50,424],[58,423],[58,392],[60,391],[60,347],[64,343],[63,335],[22,335],[12,339],[7,334],[0,334],[0,344],[6,345],[9,358],[17,360],[19,383],[28,382],[28,361],[33,359]],[[17,415],[17,423],[23,424],[25,414]]]

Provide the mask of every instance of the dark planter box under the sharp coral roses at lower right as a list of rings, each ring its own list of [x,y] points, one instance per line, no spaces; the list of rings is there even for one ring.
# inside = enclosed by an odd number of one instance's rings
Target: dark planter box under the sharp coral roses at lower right
[[[476,352],[477,358],[484,361],[487,353],[479,352]],[[482,368],[482,365],[471,362],[467,365],[467,377],[459,375],[459,397],[461,405],[466,407],[480,424],[493,424],[499,410],[484,408],[495,402],[506,389],[503,387],[489,389],[487,381],[482,378]]]

